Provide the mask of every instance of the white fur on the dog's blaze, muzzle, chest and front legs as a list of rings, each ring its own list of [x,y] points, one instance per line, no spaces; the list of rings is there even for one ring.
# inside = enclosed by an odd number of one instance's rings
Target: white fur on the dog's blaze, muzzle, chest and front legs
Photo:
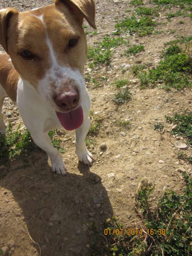
[[[43,15],[38,17],[44,23]],[[48,132],[53,129],[63,128],[55,114],[57,106],[51,97],[51,83],[54,82],[55,91],[59,91],[65,83],[75,83],[79,91],[79,106],[83,108],[83,124],[75,130],[76,148],[75,153],[78,159],[84,164],[92,164],[92,154],[85,147],[85,137],[90,127],[89,111],[91,107],[90,97],[87,92],[83,76],[79,70],[73,70],[67,66],[60,66],[57,60],[57,53],[54,52],[52,42],[46,37],[49,48],[49,55],[52,62],[51,68],[46,71],[43,79],[39,80],[37,89],[27,80],[20,76],[17,84],[16,104],[25,126],[31,133],[31,137],[37,146],[42,148],[50,157],[52,172],[66,174],[66,166],[63,163],[62,155],[53,147]],[[10,61],[10,60],[8,60]],[[58,75],[60,74],[60,75]],[[0,85],[0,132],[5,132],[5,123],[2,115],[2,106],[6,91]],[[59,108],[58,108],[59,109]]]

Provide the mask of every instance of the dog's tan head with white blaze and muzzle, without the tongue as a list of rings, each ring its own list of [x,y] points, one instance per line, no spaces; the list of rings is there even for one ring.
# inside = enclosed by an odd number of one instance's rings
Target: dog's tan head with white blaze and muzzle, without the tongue
[[[56,113],[79,108],[86,90],[85,18],[95,25],[94,0],[54,0],[26,12],[0,10],[0,44],[14,68]]]

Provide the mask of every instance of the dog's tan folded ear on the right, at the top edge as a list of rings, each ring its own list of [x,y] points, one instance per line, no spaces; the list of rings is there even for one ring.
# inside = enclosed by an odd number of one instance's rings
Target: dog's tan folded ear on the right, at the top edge
[[[72,12],[77,9],[88,21],[89,25],[97,29],[95,24],[95,2],[94,0],[54,0],[55,4],[65,4]]]

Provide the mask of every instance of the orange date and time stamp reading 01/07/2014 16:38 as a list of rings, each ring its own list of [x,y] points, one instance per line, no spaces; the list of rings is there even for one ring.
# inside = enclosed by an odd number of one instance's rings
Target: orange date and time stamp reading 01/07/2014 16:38
[[[137,236],[137,235],[151,235],[153,236],[154,234],[157,234],[159,236],[164,236],[165,235],[165,229],[164,228],[159,228],[159,229],[147,229],[146,232],[143,232],[143,229],[139,228],[105,228],[104,229],[104,235],[116,235],[116,236]]]

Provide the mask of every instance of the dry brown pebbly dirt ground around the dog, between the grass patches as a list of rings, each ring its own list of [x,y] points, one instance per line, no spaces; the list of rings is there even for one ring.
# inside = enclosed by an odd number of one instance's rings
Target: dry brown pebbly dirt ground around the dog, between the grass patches
[[[144,0],[145,4],[148,2]],[[0,3],[0,8],[14,6],[20,11],[51,4],[49,1],[11,1]],[[88,45],[102,40],[115,30],[115,17],[122,18],[126,9],[134,9],[129,1],[96,1],[97,35],[87,35]],[[174,8],[172,9],[174,10]],[[185,25],[179,24],[184,20]],[[167,21],[164,13],[156,17],[157,21]],[[86,25],[88,25],[85,22]],[[61,131],[60,137],[68,140],[62,142],[66,149],[63,154],[68,173],[65,177],[52,174],[50,160],[44,151],[35,151],[23,155],[9,165],[5,165],[7,175],[0,180],[0,248],[13,243],[8,255],[35,256],[39,248],[42,256],[88,255],[89,223],[94,220],[102,233],[103,221],[113,215],[123,224],[135,219],[133,196],[140,180],[147,179],[156,186],[157,199],[165,188],[179,191],[183,187],[179,167],[191,172],[191,166],[178,160],[178,149],[174,147],[175,138],[166,130],[165,115],[181,112],[184,108],[192,109],[191,90],[182,92],[163,89],[140,90],[139,82],[129,84],[132,101],[120,107],[111,101],[115,78],[129,77],[135,79],[129,70],[122,74],[126,64],[152,62],[160,60],[164,43],[175,38],[175,34],[191,35],[192,26],[189,17],[173,18],[167,25],[159,25],[164,33],[145,37],[132,36],[130,42],[142,43],[145,52],[137,56],[120,56],[122,46],[116,49],[111,64],[91,71],[85,67],[85,74],[91,77],[105,76],[107,81],[95,87],[87,83],[92,101],[92,111],[104,117],[98,135],[90,136],[95,140],[91,149],[94,156],[92,167],[77,163],[74,153],[74,131]],[[170,30],[176,30],[175,34]],[[87,29],[93,32],[91,28]],[[137,80],[137,79],[136,79]],[[12,113],[12,124],[22,124],[17,108],[7,98],[3,113]],[[126,130],[117,125],[117,120],[131,120],[131,129]],[[153,124],[162,122],[165,132],[161,136],[154,131]],[[124,132],[125,136],[121,135]],[[100,154],[100,144],[107,144],[107,149]],[[189,149],[188,149],[189,151]],[[134,153],[135,152],[135,153]],[[28,165],[22,158],[28,159]],[[163,164],[158,161],[163,160]],[[130,226],[129,224],[127,224]],[[27,231],[28,230],[28,231]],[[29,233],[29,235],[28,235]],[[10,241],[13,240],[13,241]]]

